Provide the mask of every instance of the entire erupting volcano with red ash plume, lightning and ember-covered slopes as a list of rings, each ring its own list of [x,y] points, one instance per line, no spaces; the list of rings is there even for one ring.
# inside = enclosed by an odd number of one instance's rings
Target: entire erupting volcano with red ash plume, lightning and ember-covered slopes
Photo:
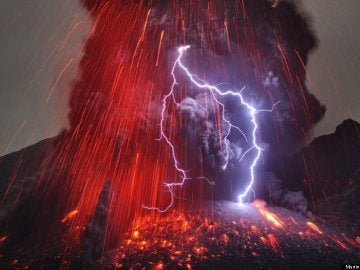
[[[306,86],[316,37],[295,3],[82,4],[93,22],[70,127],[0,160],[3,267],[360,263],[360,128],[300,151],[325,106]],[[309,162],[337,143],[351,164],[334,189]]]

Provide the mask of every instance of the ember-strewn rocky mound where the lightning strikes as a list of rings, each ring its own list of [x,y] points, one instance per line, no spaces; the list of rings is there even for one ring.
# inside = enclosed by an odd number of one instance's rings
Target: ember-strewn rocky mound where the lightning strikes
[[[216,202],[134,223],[119,269],[340,269],[360,258],[356,226],[336,229],[263,202]]]

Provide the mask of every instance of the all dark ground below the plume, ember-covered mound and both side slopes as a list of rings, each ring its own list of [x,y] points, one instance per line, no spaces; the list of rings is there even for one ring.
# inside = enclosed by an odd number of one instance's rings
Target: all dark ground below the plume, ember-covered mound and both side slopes
[[[110,250],[101,249],[106,185],[75,245],[66,244],[71,213],[44,228],[46,234],[34,233],[30,218],[17,218],[31,213],[41,164],[61,143],[61,137],[45,140],[0,159],[0,269],[340,269],[360,263],[358,130],[356,122],[344,122],[290,157],[278,174],[286,188],[307,195],[313,214],[263,201],[184,201],[181,211],[145,211]],[[304,178],[312,185],[304,186]],[[313,200],[309,187],[318,193]]]

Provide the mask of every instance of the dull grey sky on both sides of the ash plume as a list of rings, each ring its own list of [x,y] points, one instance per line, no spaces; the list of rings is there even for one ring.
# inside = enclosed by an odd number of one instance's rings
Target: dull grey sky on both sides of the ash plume
[[[360,121],[360,1],[296,1],[320,40],[309,89],[327,113],[314,135],[346,118]],[[0,156],[55,136],[67,125],[67,98],[90,19],[75,0],[0,2]]]

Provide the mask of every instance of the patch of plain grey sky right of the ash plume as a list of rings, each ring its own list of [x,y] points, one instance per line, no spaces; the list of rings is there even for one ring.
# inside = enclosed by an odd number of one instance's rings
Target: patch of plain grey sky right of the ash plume
[[[308,86],[327,106],[314,133],[327,134],[345,118],[360,121],[360,1],[300,2],[320,41],[310,55]]]

